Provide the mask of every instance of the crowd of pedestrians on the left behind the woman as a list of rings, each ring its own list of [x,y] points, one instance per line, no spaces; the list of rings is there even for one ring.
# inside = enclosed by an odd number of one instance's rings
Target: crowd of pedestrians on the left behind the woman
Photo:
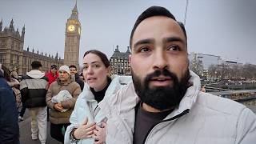
[[[31,118],[32,140],[39,139],[42,144],[46,143],[47,118],[50,117],[51,137],[64,142],[66,127],[70,125],[70,115],[84,86],[77,68],[71,65],[60,66],[58,69],[58,66],[52,65],[49,72],[44,73],[42,63],[34,61],[31,63],[32,70],[23,75],[20,81],[15,70],[10,71],[2,64],[0,66],[2,118],[0,143],[19,143],[18,120],[24,120],[26,109],[29,110]],[[66,98],[69,94],[71,98]],[[58,97],[59,102],[53,101],[54,97],[55,100]],[[6,102],[8,99],[10,102]],[[10,109],[6,111],[4,107]],[[47,108],[50,108],[50,116],[47,116]],[[7,122],[8,119],[11,121]]]

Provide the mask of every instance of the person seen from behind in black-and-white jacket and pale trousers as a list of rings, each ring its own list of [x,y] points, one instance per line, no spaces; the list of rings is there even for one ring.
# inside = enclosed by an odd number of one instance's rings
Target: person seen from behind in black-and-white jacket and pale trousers
[[[41,143],[46,143],[46,89],[48,87],[48,78],[40,71],[42,68],[41,62],[34,61],[31,63],[31,66],[32,70],[22,77],[20,90],[22,99],[26,103],[26,107],[30,110],[31,137],[33,140],[39,138]]]

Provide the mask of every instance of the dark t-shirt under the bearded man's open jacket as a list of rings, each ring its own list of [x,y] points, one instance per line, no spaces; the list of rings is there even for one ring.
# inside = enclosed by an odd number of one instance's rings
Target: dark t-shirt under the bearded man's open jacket
[[[138,106],[138,111],[136,114],[135,128],[134,128],[134,144],[143,144],[144,139],[146,138],[148,131],[154,124],[159,121],[162,121],[168,114],[173,110],[168,110],[159,113],[152,113],[146,110],[143,110],[142,104]]]

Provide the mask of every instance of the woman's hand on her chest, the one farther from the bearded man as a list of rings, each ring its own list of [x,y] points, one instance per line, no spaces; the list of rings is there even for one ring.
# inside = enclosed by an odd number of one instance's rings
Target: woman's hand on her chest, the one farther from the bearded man
[[[74,130],[74,138],[76,139],[86,139],[92,138],[94,134],[95,123],[88,124],[88,118],[78,127],[77,130]]]

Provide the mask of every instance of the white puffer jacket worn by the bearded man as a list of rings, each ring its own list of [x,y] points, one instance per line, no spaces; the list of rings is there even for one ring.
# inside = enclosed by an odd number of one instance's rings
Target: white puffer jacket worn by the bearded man
[[[190,71],[190,86],[180,105],[154,126],[146,144],[254,144],[256,116],[238,102],[200,92],[198,75]],[[99,106],[108,118],[106,143],[132,144],[134,107],[138,103],[130,83],[115,97],[104,99]]]

